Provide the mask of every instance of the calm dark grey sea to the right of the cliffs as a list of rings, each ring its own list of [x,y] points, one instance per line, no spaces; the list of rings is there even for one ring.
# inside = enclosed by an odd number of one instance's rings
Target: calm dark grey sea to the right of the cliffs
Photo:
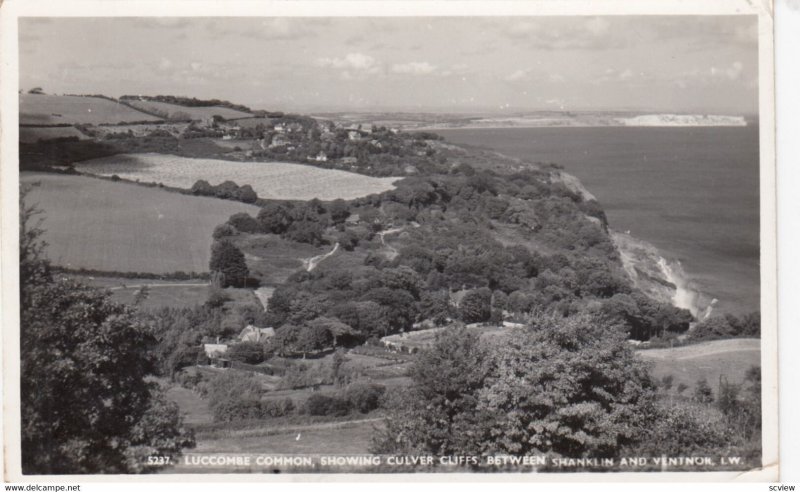
[[[759,309],[758,127],[441,130],[447,140],[555,162],[630,230],[681,262],[716,312]]]

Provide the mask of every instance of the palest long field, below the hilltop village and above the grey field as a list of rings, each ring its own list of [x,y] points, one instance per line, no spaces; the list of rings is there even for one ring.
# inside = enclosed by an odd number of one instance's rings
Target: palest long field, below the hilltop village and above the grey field
[[[212,185],[226,180],[249,184],[260,198],[279,200],[345,200],[394,188],[400,178],[373,178],[335,169],[321,169],[287,162],[237,162],[193,159],[165,154],[129,154],[80,163],[81,172],[164,183],[191,188],[199,179]]]

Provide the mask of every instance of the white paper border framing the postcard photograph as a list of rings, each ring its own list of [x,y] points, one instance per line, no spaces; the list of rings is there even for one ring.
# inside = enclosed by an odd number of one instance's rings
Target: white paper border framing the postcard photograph
[[[224,5],[224,6],[223,6]],[[613,473],[613,474],[414,474],[414,475],[158,475],[158,476],[22,476],[18,446],[19,408],[19,292],[18,292],[18,46],[19,16],[507,16],[507,15],[759,15],[759,87],[761,128],[761,281],[762,281],[762,376],[764,388],[764,463],[748,473]],[[6,0],[0,9],[0,186],[2,186],[2,283],[4,470],[7,477],[38,482],[251,482],[251,481],[408,481],[408,482],[516,482],[593,481],[652,482],[767,481],[778,477],[777,415],[777,294],[776,294],[776,195],[774,151],[774,91],[772,5],[769,0],[537,0],[537,1],[43,1]],[[16,443],[16,444],[11,444]]]

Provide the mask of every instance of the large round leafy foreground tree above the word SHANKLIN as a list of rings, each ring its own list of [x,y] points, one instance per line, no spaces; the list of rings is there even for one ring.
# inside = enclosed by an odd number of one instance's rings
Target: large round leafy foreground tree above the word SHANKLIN
[[[615,457],[652,422],[647,365],[624,333],[597,318],[533,316],[498,344],[495,370],[481,390],[492,452]]]

